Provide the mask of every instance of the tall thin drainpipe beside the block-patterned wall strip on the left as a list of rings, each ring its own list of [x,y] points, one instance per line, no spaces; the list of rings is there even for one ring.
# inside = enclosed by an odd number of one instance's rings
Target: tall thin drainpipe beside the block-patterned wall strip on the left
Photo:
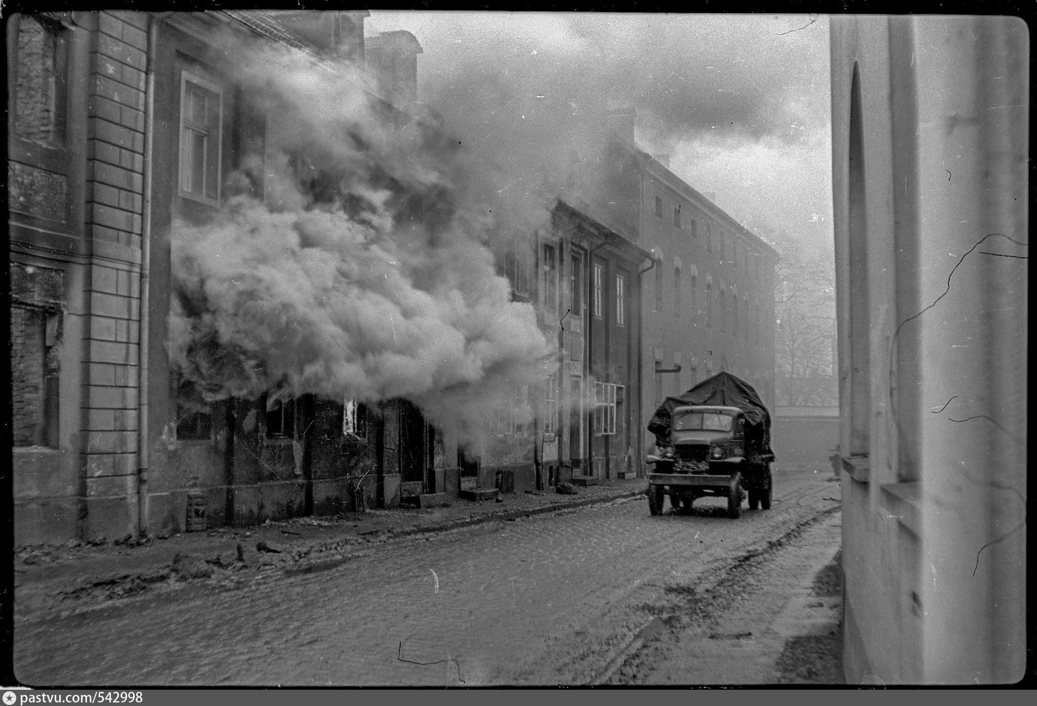
[[[140,331],[137,343],[137,532],[147,536],[148,355],[150,346],[151,173],[155,144],[155,64],[159,25],[172,12],[152,15],[147,28],[147,85],[144,104],[143,214],[140,235]]]

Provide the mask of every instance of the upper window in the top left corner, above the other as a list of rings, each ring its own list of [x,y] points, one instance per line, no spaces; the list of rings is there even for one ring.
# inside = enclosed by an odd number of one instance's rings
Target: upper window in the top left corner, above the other
[[[64,142],[67,57],[65,32],[58,23],[18,16],[13,93],[15,134],[19,137],[44,145]]]

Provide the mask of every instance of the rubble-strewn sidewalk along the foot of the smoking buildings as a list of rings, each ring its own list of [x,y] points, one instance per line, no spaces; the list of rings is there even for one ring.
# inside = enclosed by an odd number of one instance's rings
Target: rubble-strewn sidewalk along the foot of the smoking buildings
[[[26,614],[69,606],[68,601],[104,601],[192,580],[222,585],[269,575],[295,575],[330,568],[371,554],[399,537],[445,532],[488,521],[507,521],[585,507],[643,493],[643,478],[581,487],[578,495],[521,492],[503,502],[456,499],[449,507],[368,510],[332,517],[296,517],[254,527],[152,538],[136,544],[73,541],[65,545],[18,547],[15,608]]]

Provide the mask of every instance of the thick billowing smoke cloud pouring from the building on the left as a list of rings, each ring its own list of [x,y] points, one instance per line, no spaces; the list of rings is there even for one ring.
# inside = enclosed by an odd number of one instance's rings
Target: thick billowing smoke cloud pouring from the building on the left
[[[267,143],[214,220],[174,224],[169,346],[188,387],[204,401],[405,397],[471,435],[542,380],[552,346],[495,274],[484,246],[504,224],[478,200],[478,164],[346,67],[230,51]]]

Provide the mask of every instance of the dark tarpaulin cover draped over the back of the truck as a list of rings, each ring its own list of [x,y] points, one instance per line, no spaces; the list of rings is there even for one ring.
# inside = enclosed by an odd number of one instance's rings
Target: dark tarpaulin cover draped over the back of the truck
[[[774,451],[770,450],[770,413],[753,386],[746,380],[729,372],[719,372],[678,397],[667,397],[648,422],[648,431],[656,439],[669,442],[673,411],[689,404],[738,407],[746,416],[747,445],[750,439],[755,439],[758,453],[774,458]]]

